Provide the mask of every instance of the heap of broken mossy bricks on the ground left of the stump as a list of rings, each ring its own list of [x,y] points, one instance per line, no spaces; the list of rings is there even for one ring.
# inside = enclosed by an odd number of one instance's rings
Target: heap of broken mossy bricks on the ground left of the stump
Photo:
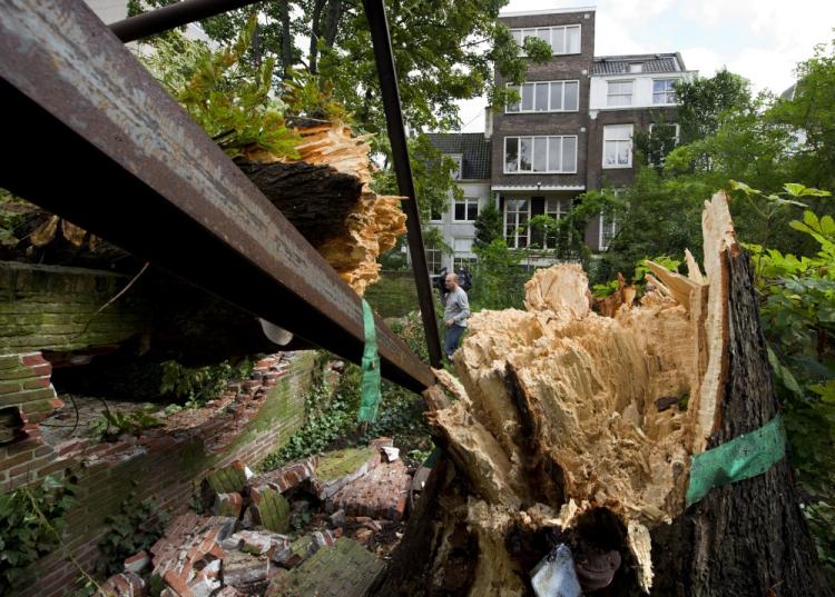
[[[362,596],[401,536],[411,481],[389,438],[259,476],[235,461],[203,481],[205,514],[176,517],[98,595]]]

